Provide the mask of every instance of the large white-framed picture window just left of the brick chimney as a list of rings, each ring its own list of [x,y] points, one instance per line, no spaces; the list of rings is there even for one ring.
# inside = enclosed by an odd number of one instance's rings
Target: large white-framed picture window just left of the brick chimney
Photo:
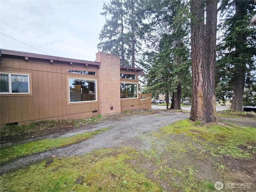
[[[68,78],[69,102],[96,101],[96,81]]]

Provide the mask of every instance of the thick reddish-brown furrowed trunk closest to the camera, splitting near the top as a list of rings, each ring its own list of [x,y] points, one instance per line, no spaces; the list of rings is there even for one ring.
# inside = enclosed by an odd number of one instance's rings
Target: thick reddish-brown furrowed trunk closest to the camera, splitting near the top
[[[191,59],[192,108],[190,120],[202,123],[217,122],[214,96],[216,66],[216,0],[206,1],[206,26],[204,26],[204,1],[191,1]]]

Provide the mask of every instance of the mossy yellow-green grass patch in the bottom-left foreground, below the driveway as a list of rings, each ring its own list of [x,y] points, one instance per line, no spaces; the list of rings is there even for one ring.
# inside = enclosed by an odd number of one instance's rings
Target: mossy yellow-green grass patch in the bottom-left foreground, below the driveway
[[[138,157],[132,148],[104,149],[83,156],[54,159],[0,178],[1,191],[10,192],[161,192],[158,183],[137,173],[126,161]]]

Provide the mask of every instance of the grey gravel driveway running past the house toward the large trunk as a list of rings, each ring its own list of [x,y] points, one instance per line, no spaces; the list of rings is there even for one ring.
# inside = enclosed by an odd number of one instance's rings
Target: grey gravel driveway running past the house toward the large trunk
[[[122,145],[122,143],[136,147],[136,140],[139,139],[140,136],[151,131],[158,131],[158,129],[163,126],[189,118],[189,116],[190,114],[186,112],[156,110],[154,114],[123,116],[118,119],[107,120],[94,125],[76,128],[65,134],[53,134],[47,136],[47,138],[69,137],[83,132],[109,128],[109,130],[101,132],[93,138],[84,140],[78,144],[48,150],[24,158],[18,158],[6,164],[3,163],[1,164],[0,173],[4,174],[29,166],[35,162],[50,160],[52,159],[52,155],[56,158],[82,155],[91,152],[92,150],[118,146]]]

